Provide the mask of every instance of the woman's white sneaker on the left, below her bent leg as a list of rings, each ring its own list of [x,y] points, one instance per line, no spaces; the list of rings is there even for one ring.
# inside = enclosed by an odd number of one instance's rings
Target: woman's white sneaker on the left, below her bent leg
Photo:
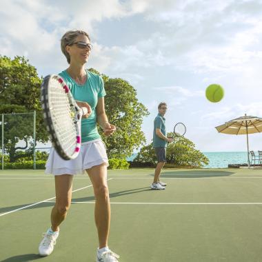
[[[46,233],[43,233],[43,240],[39,245],[39,255],[49,256],[54,250],[54,245],[56,244],[59,232],[50,232],[50,229]]]

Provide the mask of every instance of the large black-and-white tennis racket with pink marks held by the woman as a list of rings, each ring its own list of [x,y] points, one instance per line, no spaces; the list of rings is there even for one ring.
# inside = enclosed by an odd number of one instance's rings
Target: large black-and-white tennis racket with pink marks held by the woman
[[[75,159],[81,148],[81,118],[88,109],[79,108],[66,82],[55,74],[43,79],[41,105],[55,150],[62,159]]]

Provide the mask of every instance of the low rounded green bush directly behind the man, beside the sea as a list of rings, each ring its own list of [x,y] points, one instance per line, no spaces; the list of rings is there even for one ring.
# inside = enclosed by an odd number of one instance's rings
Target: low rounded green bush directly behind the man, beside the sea
[[[171,135],[171,133],[168,134],[168,136]],[[154,156],[152,145],[150,143],[150,145],[141,148],[134,161],[154,164],[156,157]],[[185,137],[176,137],[172,143],[168,143],[166,159],[167,163],[174,166],[190,168],[203,168],[209,162],[203,153],[195,149],[194,143]]]

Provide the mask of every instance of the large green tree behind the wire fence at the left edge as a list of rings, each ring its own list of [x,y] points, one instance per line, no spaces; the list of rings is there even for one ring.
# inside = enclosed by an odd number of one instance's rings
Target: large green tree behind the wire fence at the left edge
[[[37,111],[37,141],[48,141],[48,133],[43,123],[40,103],[40,87],[42,79],[38,77],[37,70],[28,63],[24,57],[0,56],[0,114],[25,113]],[[5,151],[10,156],[10,162],[23,157],[17,150],[31,150],[32,143],[32,116],[22,115],[5,116],[4,138]],[[1,130],[0,130],[1,134]],[[18,147],[19,141],[25,141],[24,147]],[[32,154],[28,152],[28,155]]]

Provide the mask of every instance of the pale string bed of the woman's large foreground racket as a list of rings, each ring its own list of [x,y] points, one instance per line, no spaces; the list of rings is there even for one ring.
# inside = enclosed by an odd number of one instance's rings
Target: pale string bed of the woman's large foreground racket
[[[73,154],[77,143],[77,114],[74,106],[70,105],[68,95],[58,81],[50,83],[48,92],[54,132],[63,150]]]

